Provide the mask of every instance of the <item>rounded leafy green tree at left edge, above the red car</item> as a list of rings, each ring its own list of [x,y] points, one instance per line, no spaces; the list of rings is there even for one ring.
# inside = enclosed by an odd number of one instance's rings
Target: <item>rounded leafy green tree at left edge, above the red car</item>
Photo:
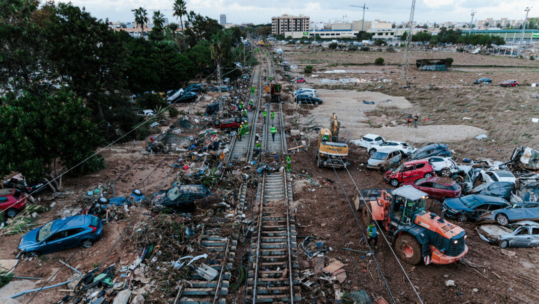
[[[100,144],[90,110],[72,92],[43,96],[24,93],[18,98],[10,94],[2,103],[2,177],[17,171],[30,181],[51,181],[61,174],[59,164],[71,168],[91,156]],[[61,177],[51,183],[51,188],[60,190]]]

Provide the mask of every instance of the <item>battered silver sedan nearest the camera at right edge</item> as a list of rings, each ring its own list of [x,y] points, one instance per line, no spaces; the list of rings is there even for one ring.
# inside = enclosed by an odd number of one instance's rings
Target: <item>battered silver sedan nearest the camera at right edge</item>
[[[501,248],[539,246],[539,224],[523,220],[511,226],[482,225],[476,230],[483,241]]]

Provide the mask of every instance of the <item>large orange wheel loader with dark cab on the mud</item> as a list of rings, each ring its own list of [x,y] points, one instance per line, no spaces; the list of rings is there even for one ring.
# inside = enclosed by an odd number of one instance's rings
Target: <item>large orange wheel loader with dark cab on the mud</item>
[[[412,185],[393,189],[391,194],[386,189],[369,190],[362,197],[372,214],[363,205],[363,223],[378,221],[399,257],[407,263],[417,265],[423,260],[426,265],[451,264],[468,252],[466,232],[444,219],[445,210],[441,217],[425,210],[428,198],[425,192]],[[373,196],[374,201],[367,201]]]

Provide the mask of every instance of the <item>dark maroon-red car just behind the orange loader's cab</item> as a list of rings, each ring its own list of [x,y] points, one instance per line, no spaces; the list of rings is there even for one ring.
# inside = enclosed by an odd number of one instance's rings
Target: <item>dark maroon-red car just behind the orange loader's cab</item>
[[[413,188],[421,190],[429,195],[430,198],[443,201],[446,198],[460,197],[462,191],[457,182],[450,178],[426,177],[418,179],[415,182],[405,182],[404,185],[412,185]]]

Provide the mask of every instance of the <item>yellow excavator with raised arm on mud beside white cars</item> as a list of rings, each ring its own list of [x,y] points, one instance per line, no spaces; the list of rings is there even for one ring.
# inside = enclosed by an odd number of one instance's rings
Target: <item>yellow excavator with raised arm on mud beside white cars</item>
[[[333,113],[330,121],[330,129],[320,129],[315,155],[317,167],[346,168],[349,164],[346,162],[348,144],[339,142],[338,140],[338,129],[340,126],[341,123],[337,120],[337,115]]]

